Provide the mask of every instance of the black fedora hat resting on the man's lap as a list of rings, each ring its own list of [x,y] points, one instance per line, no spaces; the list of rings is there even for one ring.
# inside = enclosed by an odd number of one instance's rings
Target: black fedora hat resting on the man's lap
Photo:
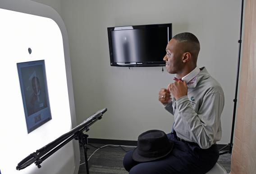
[[[174,143],[162,130],[148,130],[138,136],[138,146],[133,150],[133,160],[147,162],[166,157]]]

